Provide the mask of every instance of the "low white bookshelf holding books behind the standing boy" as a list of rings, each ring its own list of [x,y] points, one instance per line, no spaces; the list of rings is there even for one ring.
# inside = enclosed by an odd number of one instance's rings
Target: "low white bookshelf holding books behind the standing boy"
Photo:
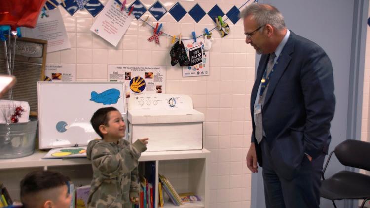
[[[17,199],[19,197],[19,181],[22,177],[34,170],[50,169],[60,171],[68,175],[72,181],[81,184],[89,184],[92,177],[91,162],[86,158],[68,159],[42,159],[46,152],[36,151],[34,154],[16,159],[0,159],[0,181],[8,187],[10,195]],[[166,201],[164,208],[208,208],[209,206],[209,170],[210,170],[210,151],[184,150],[184,151],[162,151],[162,152],[143,152],[139,161],[155,161],[156,182],[155,182],[155,201],[158,202],[158,173],[163,172],[166,164],[179,164],[183,166],[180,170],[185,173],[182,184],[177,184],[177,189],[181,192],[194,192],[202,196],[201,202],[189,203],[182,206],[175,206]],[[9,177],[12,174],[12,177]],[[165,175],[170,181],[171,177]],[[185,183],[184,183],[185,181]],[[77,183],[78,183],[77,182]],[[173,184],[176,188],[176,183]],[[163,192],[165,193],[165,192]],[[166,194],[165,194],[166,195]],[[158,206],[157,206],[158,207]]]

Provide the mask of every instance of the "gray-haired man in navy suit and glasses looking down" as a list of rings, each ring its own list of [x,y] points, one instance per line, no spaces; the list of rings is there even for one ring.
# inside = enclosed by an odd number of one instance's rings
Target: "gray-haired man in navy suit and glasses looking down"
[[[262,54],[251,93],[247,166],[262,167],[267,208],[319,208],[320,177],[335,109],[333,68],[324,50],[289,31],[273,6],[240,14],[246,43]]]

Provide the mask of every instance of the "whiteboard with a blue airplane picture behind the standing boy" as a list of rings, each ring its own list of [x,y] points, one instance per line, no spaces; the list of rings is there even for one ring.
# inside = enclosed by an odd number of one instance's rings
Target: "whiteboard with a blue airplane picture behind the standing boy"
[[[126,118],[124,92],[124,82],[37,82],[40,149],[83,146],[100,138],[90,124],[92,115],[115,107]]]

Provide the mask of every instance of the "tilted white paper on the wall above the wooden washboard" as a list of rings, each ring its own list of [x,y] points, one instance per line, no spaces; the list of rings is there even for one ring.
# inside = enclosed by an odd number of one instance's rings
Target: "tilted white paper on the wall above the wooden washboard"
[[[22,28],[25,37],[47,40],[47,53],[71,48],[63,18],[59,9],[40,14],[35,28]]]

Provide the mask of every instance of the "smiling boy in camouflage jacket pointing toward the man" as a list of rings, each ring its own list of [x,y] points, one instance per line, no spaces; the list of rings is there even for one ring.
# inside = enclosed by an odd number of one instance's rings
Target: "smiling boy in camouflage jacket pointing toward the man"
[[[90,120],[102,139],[87,146],[87,158],[93,167],[93,180],[87,201],[88,208],[131,208],[139,203],[139,157],[148,138],[133,144],[124,140],[125,123],[114,107],[98,109]]]

